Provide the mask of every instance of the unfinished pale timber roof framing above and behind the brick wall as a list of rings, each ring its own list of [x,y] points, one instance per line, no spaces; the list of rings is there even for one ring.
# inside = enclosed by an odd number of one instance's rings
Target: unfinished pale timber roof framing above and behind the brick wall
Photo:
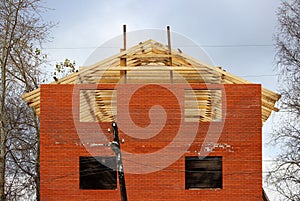
[[[171,62],[170,62],[171,61]],[[170,66],[170,63],[172,64]],[[70,74],[50,84],[116,84],[116,83],[206,83],[206,84],[251,84],[251,82],[224,71],[220,67],[205,64],[192,58],[181,51],[170,50],[168,46],[153,40],[139,43],[130,49],[104,59],[91,66],[81,67],[79,72]],[[201,118],[199,121],[210,121],[218,119],[221,108],[212,105],[212,93],[203,94],[197,92],[197,100]],[[102,96],[103,91],[94,93],[93,98],[98,105],[96,118],[100,121],[111,121],[112,107],[111,98],[107,93]],[[188,95],[187,95],[188,96]],[[199,97],[198,97],[199,96]],[[22,98],[40,113],[40,89],[26,93]],[[280,95],[262,88],[262,121],[265,122],[272,111],[278,111],[275,103]],[[105,100],[104,100],[105,99]],[[87,109],[88,101],[81,103],[81,107]],[[216,111],[213,114],[211,111]],[[186,110],[186,116],[194,116],[193,109]],[[88,113],[83,111],[83,115]],[[215,116],[213,116],[215,115]],[[82,117],[82,121],[89,121],[90,117]],[[198,118],[198,117],[197,117]]]

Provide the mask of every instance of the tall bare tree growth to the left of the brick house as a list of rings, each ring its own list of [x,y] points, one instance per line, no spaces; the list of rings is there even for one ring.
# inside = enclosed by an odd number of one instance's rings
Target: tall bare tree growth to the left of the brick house
[[[39,200],[39,122],[20,95],[40,83],[40,46],[52,27],[41,11],[40,0],[0,0],[1,201],[33,191]]]

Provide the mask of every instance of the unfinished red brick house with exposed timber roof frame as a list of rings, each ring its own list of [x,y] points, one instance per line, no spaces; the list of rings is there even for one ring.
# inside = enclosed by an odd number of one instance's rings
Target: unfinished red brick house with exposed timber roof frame
[[[129,201],[265,199],[262,124],[279,95],[168,46],[139,43],[23,99],[40,116],[41,200],[121,200],[112,121]]]

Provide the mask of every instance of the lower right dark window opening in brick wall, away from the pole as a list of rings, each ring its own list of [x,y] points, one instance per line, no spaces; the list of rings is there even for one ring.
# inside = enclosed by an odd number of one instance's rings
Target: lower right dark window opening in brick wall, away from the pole
[[[185,189],[222,188],[222,157],[185,157]]]

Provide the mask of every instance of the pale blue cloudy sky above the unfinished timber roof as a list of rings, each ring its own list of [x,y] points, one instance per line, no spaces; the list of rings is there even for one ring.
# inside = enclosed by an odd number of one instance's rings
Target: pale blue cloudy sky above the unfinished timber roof
[[[274,41],[277,0],[44,0],[43,17],[58,22],[45,51],[52,64],[65,58],[81,66],[106,41],[127,31],[171,30],[194,41],[217,66],[277,91]],[[137,43],[140,41],[137,41]],[[111,48],[118,53],[122,47]],[[182,48],[182,47],[180,47]],[[107,52],[109,48],[103,48]],[[103,58],[99,58],[101,60]],[[50,67],[51,71],[51,67]],[[274,116],[274,115],[273,115]],[[271,132],[273,117],[264,125]],[[265,140],[266,141],[266,140]],[[274,150],[264,146],[264,159]]]

